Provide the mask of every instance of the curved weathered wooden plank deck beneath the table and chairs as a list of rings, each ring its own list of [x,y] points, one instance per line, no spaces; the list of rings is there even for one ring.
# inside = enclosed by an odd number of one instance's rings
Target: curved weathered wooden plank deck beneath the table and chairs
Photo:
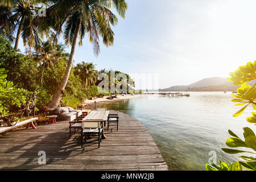
[[[0,169],[25,170],[168,170],[158,147],[137,119],[119,113],[119,129],[107,139],[81,148],[80,134],[69,139],[68,121],[18,129],[0,136]],[[46,152],[46,165],[38,152]]]

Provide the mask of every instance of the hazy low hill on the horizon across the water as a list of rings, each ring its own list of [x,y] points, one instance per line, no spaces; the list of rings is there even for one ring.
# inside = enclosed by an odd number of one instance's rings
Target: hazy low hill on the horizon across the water
[[[255,81],[249,83],[254,85]],[[233,85],[232,82],[226,81],[226,78],[212,77],[204,78],[190,85],[177,85],[170,88],[160,89],[160,92],[234,92],[240,86]]]

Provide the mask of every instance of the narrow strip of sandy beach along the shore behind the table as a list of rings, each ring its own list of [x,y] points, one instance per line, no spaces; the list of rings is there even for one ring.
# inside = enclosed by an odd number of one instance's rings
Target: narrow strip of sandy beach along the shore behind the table
[[[85,102],[82,104],[82,109],[94,109],[94,102],[96,101],[96,107],[102,106],[102,105],[106,105],[106,104],[112,104],[113,102],[118,102],[118,101],[122,101],[122,100],[128,100],[131,98],[138,98],[138,97],[148,97],[151,94],[136,94],[134,96],[131,95],[127,95],[127,96],[121,96],[118,95],[117,98],[115,98],[114,100],[108,100],[107,98],[109,96],[104,96],[103,98],[96,98],[95,100],[85,100]]]

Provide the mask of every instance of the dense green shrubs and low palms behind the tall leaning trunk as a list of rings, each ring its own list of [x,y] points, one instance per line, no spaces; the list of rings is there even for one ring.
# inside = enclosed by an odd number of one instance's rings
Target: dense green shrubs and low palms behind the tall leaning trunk
[[[42,108],[47,108],[59,89],[68,65],[68,54],[61,44],[42,42],[40,45],[42,51],[27,56],[15,51],[11,43],[0,36],[0,122],[10,120],[13,114],[15,117],[29,115],[33,107],[37,113],[43,112]],[[110,75],[110,71],[105,69],[105,72]],[[102,92],[109,95],[106,90],[98,88],[98,74],[93,63],[82,62],[73,67],[60,105],[76,108],[85,98],[102,97]],[[83,79],[90,80],[90,84],[85,84]]]

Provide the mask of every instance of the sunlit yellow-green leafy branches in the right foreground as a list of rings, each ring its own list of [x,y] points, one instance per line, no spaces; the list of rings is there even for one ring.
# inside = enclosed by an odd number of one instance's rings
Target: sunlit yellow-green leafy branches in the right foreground
[[[233,116],[240,116],[249,105],[252,105],[253,109],[256,110],[256,84],[254,84],[253,86],[247,85],[247,82],[256,80],[256,61],[254,63],[247,63],[247,65],[240,67],[237,71],[230,73],[230,76],[231,77],[228,78],[228,81],[233,81],[234,85],[241,85],[241,87],[237,89],[237,94],[232,94],[232,96],[234,97],[232,102],[236,102],[236,106],[243,106]],[[252,114],[253,116],[247,117],[247,122],[253,123],[255,125],[256,113],[253,112]],[[243,128],[244,139],[238,137],[231,130],[229,130],[228,132],[232,136],[232,138],[228,138],[226,140],[226,145],[231,148],[222,148],[222,151],[228,154],[246,153],[247,155],[254,154],[254,156],[241,155],[239,158],[242,161],[238,161],[229,165],[225,162],[220,161],[220,166],[218,166],[217,164],[205,164],[205,168],[208,171],[241,171],[243,168],[255,171],[256,137],[254,131],[251,130],[249,127]],[[237,147],[245,147],[247,148],[247,150],[233,149]]]

